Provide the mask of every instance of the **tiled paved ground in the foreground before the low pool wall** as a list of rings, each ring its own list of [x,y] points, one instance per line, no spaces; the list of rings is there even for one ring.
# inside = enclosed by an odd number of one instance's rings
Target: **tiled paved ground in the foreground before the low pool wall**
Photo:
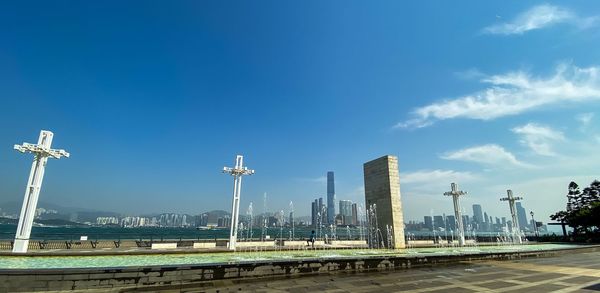
[[[207,285],[163,292],[600,292],[600,253]]]

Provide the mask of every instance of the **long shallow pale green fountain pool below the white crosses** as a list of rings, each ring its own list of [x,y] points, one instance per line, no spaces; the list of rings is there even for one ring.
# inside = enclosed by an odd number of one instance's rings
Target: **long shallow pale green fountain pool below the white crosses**
[[[147,266],[176,266],[198,264],[235,264],[303,259],[369,258],[378,256],[442,256],[478,255],[489,253],[532,252],[562,250],[579,247],[569,244],[530,244],[514,246],[440,247],[387,249],[326,249],[292,251],[258,251],[225,253],[176,253],[149,255],[108,256],[0,256],[0,270],[67,269],[67,268],[122,268]]]

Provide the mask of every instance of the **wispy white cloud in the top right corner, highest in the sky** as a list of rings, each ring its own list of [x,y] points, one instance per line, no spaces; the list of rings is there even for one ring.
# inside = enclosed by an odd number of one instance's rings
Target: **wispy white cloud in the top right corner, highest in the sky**
[[[485,34],[521,35],[528,31],[568,23],[578,28],[597,24],[597,17],[580,17],[569,9],[553,5],[538,5],[517,15],[509,22],[483,28]]]

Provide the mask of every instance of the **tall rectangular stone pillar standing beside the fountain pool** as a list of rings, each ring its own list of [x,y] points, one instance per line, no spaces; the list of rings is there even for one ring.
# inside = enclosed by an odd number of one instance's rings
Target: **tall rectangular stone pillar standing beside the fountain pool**
[[[387,247],[387,226],[392,227],[391,248],[405,248],[404,219],[400,199],[398,158],[383,156],[363,165],[365,177],[365,203],[367,208],[376,204],[377,224]]]

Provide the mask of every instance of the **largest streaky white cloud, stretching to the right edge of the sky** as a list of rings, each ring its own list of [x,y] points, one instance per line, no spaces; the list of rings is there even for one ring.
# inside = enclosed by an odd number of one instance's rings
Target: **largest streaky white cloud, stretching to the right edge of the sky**
[[[554,75],[532,77],[516,71],[481,79],[489,84],[481,91],[433,103],[413,111],[415,118],[394,128],[422,128],[436,120],[469,118],[492,120],[517,115],[543,106],[600,100],[600,67],[557,66]]]

